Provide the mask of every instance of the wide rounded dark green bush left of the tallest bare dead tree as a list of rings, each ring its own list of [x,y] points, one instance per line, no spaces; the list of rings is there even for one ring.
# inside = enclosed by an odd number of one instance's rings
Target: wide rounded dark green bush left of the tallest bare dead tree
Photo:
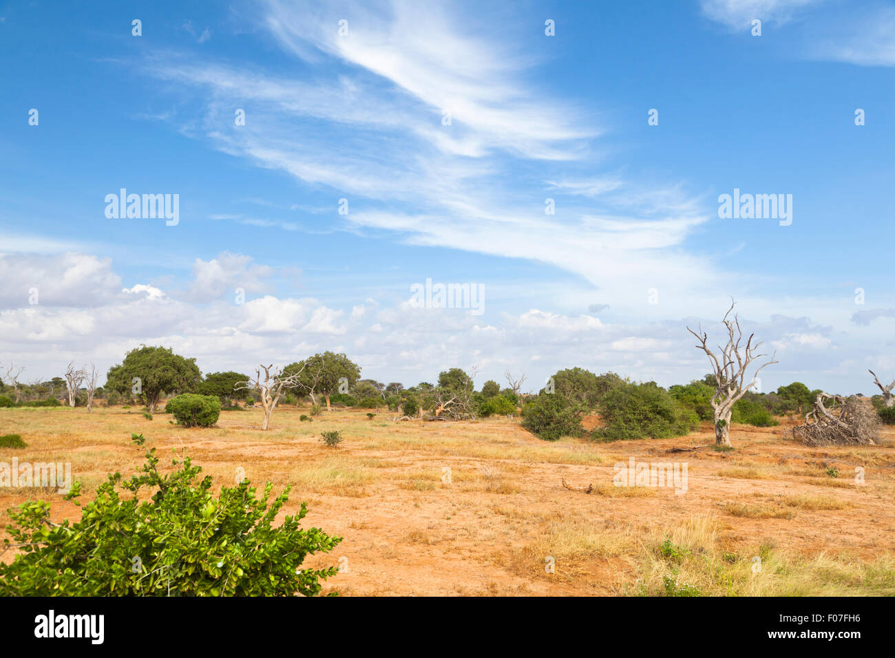
[[[699,426],[695,411],[652,383],[621,384],[602,397],[598,410],[603,424],[594,430],[595,439],[668,439]]]

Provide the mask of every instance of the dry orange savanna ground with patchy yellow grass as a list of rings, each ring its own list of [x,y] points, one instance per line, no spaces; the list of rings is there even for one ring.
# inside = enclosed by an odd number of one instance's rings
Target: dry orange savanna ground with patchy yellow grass
[[[0,409],[3,432],[29,444],[14,455],[0,449],[0,462],[69,462],[82,500],[91,500],[107,473],[139,469],[130,437],[142,432],[163,466],[172,450],[185,451],[216,486],[234,483],[238,469],[275,491],[291,485],[283,514],[304,500],[307,526],[345,538],[335,553],[308,559],[310,567],[351,561],[350,575],[326,588],[342,594],[895,594],[891,441],[808,449],[735,426],[735,453],[686,454],[689,482],[678,495],[614,486],[613,466],[667,461],[669,449],[711,442],[710,430],[678,440],[545,442],[518,419],[393,423],[384,412],[369,421],[338,410],[302,423],[302,413],[277,408],[273,429],[261,432],[260,410],[187,430],[139,409]],[[343,433],[339,449],[320,445],[326,430]],[[831,466],[840,478],[827,474]],[[855,483],[857,467],[865,485]],[[567,491],[563,478],[594,491]],[[55,492],[0,488],[0,524],[6,508],[33,497],[58,517],[79,514]]]

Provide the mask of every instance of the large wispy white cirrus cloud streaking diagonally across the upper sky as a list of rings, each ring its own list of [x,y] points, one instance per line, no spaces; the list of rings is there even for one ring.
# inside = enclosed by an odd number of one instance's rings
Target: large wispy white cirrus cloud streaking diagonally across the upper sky
[[[477,32],[439,4],[264,7],[262,29],[325,73],[292,76],[170,54],[145,70],[184,93],[202,91],[193,136],[348,198],[351,211],[339,218],[346,229],[549,263],[596,286],[611,281],[604,296],[619,306],[658,281],[681,293],[723,285],[711,263],[684,249],[712,217],[704,200],[676,183],[646,188],[616,172],[594,175],[601,162],[592,141],[608,128],[526,84],[537,61],[490,31],[511,30],[511,17],[491,16]],[[338,33],[343,18],[346,36]],[[234,107],[246,108],[244,126],[233,125]],[[554,214],[545,213],[548,197]]]

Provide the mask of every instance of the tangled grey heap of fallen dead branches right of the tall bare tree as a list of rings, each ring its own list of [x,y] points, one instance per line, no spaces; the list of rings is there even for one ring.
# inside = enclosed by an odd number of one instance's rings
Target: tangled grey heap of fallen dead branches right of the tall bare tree
[[[873,409],[857,397],[819,393],[805,423],[792,428],[792,435],[806,446],[873,446],[880,420]]]

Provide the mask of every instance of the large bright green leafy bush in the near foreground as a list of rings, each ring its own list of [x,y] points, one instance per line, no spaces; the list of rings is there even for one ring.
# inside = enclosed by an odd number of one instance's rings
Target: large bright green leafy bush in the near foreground
[[[142,435],[133,440],[143,445]],[[307,555],[342,541],[300,528],[304,503],[273,526],[290,487],[269,508],[270,483],[261,499],[248,480],[215,497],[211,478],[197,482],[202,469],[189,457],[175,457],[175,470],[161,474],[155,449],[145,454],[141,473],[124,481],[110,474],[76,523],[54,523],[42,500],[10,510],[7,532],[22,552],[0,564],[0,595],[312,596],[320,579],[336,574],[335,567],[299,570]],[[75,482],[65,499],[80,495]]]

